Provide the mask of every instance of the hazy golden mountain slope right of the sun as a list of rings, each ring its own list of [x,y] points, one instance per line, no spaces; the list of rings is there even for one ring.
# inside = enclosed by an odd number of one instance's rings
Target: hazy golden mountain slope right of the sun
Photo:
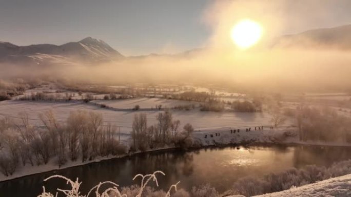
[[[274,41],[273,47],[351,50],[351,25],[284,35]]]

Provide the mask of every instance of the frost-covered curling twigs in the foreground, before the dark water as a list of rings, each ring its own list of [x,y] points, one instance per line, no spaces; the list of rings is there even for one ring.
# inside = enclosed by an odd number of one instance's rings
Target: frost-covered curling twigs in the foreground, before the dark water
[[[57,192],[61,192],[63,193],[66,197],[89,197],[89,196],[95,196],[95,197],[129,197],[129,196],[135,196],[135,197],[170,197],[170,192],[171,190],[174,188],[175,190],[175,194],[177,194],[177,185],[179,184],[179,182],[177,184],[171,185],[170,188],[168,189],[167,192],[164,192],[163,190],[159,190],[159,191],[155,191],[153,188],[148,187],[147,184],[150,181],[153,181],[156,183],[157,186],[159,186],[156,175],[157,174],[162,174],[165,175],[165,173],[163,173],[162,171],[155,171],[152,174],[136,174],[136,176],[133,178],[133,180],[136,180],[138,178],[141,178],[141,184],[140,186],[138,185],[132,185],[130,187],[124,187],[122,188],[122,192],[120,192],[119,190],[119,185],[115,184],[113,182],[110,181],[105,181],[105,182],[100,182],[99,184],[95,185],[94,187],[92,187],[90,189],[90,191],[87,193],[87,195],[83,195],[80,192],[80,186],[82,184],[82,182],[78,181],[78,178],[76,179],[76,181],[72,181],[66,177],[60,176],[60,175],[54,175],[51,176],[47,179],[45,179],[44,181],[50,180],[50,179],[54,179],[54,178],[59,178],[59,179],[63,179],[66,181],[66,183],[68,185],[71,186],[71,189],[59,189],[57,188]],[[110,187],[108,187],[105,190],[101,190],[101,186],[102,185],[109,185]],[[38,197],[53,197],[53,196],[57,196],[57,193],[54,195],[50,192],[47,192],[45,190],[45,187],[43,186],[43,192],[42,194],[38,195]],[[184,195],[182,195],[184,194]],[[184,190],[178,192],[177,195],[175,196],[189,196],[189,194],[187,192],[185,192]]]

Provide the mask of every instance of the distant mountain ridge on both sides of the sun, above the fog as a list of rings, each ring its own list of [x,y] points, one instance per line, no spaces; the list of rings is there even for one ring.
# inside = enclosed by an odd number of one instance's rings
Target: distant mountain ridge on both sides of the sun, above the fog
[[[311,29],[297,34],[288,34],[273,40],[270,48],[299,48],[318,50],[351,50],[351,24]],[[191,58],[206,48],[197,48],[175,54],[149,54],[123,56],[105,41],[86,37],[63,45],[37,44],[17,46],[11,42],[0,41],[0,62],[24,64],[74,64],[106,62],[121,59],[144,59],[149,57]]]

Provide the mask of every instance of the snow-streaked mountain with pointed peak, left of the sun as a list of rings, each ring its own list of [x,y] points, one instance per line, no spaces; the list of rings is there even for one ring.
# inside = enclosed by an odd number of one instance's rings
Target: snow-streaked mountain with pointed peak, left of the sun
[[[95,63],[122,59],[124,56],[106,42],[91,37],[64,45],[16,46],[0,42],[0,62],[57,64]]]

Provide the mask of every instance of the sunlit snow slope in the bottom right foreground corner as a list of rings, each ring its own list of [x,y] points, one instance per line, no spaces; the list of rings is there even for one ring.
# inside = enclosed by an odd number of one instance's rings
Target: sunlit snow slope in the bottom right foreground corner
[[[351,196],[351,174],[333,179],[327,179],[314,184],[288,189],[276,193],[258,195],[260,197],[319,197],[319,196]]]

